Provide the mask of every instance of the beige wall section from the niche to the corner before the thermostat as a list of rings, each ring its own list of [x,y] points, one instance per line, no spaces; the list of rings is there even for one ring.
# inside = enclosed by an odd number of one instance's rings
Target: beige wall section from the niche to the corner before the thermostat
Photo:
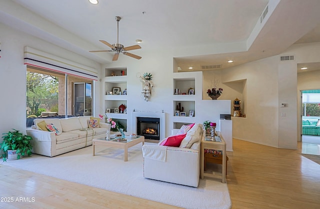
[[[277,63],[276,57],[249,62],[223,70],[222,82],[245,80],[243,94],[237,96],[246,108],[245,118],[232,118],[232,136],[277,147]],[[238,92],[240,95],[240,93]],[[228,96],[224,91],[224,96]],[[235,99],[234,92],[232,98]],[[232,106],[232,105],[231,105]]]

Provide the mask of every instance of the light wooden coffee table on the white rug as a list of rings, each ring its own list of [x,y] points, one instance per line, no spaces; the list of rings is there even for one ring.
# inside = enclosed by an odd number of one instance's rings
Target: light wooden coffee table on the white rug
[[[137,135],[135,137],[126,136],[125,138],[111,138],[106,140],[105,137],[93,138],[92,147],[93,147],[93,156],[95,155],[95,146],[107,146],[114,148],[124,149],[124,161],[128,161],[128,148],[142,142],[144,144],[144,136]]]

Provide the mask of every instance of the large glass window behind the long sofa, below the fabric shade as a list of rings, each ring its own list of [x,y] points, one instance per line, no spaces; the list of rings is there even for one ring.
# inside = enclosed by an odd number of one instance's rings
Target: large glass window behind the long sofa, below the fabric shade
[[[27,65],[26,117],[91,115],[91,86],[90,79]]]

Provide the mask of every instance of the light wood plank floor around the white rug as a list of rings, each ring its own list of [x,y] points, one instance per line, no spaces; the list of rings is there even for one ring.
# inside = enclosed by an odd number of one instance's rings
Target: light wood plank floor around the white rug
[[[278,149],[233,139],[234,151],[227,152],[232,208],[320,208],[320,165],[301,156],[298,146]],[[3,164],[0,176],[0,208],[176,208]]]

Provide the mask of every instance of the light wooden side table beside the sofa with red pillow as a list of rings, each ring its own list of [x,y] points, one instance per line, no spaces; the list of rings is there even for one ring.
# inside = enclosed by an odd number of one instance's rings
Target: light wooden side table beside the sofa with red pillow
[[[225,183],[225,168],[226,168],[226,144],[221,136],[219,131],[216,131],[221,138],[221,141],[207,141],[201,140],[201,168],[200,168],[200,178],[203,179],[204,176],[207,177],[221,177],[222,183]],[[204,149],[215,149],[215,150],[222,150],[222,173],[204,173]]]

